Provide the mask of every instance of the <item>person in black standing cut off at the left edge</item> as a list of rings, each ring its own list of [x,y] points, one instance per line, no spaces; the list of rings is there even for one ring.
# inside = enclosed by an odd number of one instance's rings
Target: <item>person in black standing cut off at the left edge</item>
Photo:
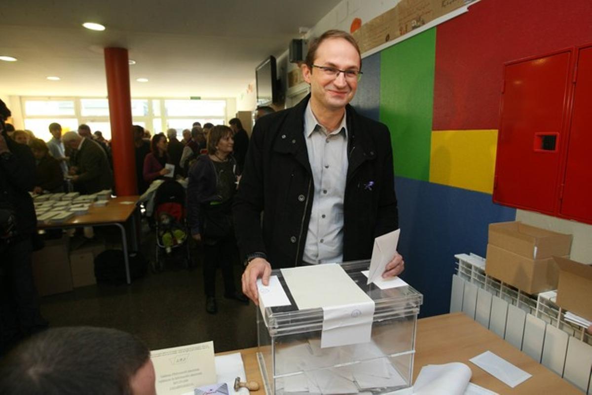
[[[37,217],[28,191],[35,187],[35,159],[28,146],[8,137],[9,115],[0,100],[0,355],[18,338],[47,326],[31,267]]]

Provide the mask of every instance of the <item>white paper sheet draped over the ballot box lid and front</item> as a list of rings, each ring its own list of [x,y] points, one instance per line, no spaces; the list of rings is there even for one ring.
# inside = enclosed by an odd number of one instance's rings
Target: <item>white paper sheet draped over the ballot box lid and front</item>
[[[370,341],[374,301],[340,265],[298,266],[281,271],[298,309],[323,309],[321,347]]]

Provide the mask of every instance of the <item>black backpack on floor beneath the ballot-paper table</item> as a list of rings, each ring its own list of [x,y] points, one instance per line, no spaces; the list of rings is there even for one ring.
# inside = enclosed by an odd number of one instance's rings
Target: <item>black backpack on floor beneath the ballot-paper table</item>
[[[130,277],[131,280],[143,277],[146,274],[148,261],[140,252],[130,252]],[[126,282],[126,264],[121,250],[105,250],[95,258],[96,282],[110,282],[111,284],[124,284]]]

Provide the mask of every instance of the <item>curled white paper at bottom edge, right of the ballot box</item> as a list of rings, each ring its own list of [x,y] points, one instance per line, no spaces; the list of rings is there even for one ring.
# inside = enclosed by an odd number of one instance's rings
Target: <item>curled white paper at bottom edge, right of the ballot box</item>
[[[413,393],[419,395],[463,395],[471,380],[471,368],[461,362],[426,365],[417,375]]]

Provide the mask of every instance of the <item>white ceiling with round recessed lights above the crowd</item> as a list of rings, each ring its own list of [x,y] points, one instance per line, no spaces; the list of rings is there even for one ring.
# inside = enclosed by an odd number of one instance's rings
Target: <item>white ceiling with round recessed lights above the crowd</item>
[[[133,97],[237,97],[339,0],[2,0],[0,93],[107,95],[103,48],[125,47]],[[82,23],[104,24],[91,31]],[[47,81],[47,76],[61,81]],[[149,82],[136,82],[136,78]]]

